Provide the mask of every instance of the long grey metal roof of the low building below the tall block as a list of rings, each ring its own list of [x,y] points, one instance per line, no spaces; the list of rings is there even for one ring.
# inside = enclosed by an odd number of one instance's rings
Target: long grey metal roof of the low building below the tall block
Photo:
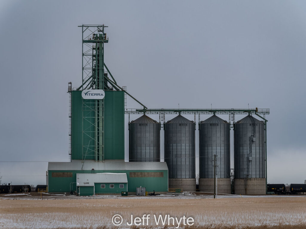
[[[124,160],[105,160],[96,162],[85,160],[72,162],[49,162],[48,170],[168,170],[166,162],[125,162]]]

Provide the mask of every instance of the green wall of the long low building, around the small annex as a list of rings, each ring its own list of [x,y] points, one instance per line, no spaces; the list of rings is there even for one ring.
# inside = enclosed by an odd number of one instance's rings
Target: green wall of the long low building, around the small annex
[[[72,172],[72,177],[52,177],[53,172]],[[129,172],[163,172],[163,177],[130,177]],[[48,191],[69,192],[71,184],[72,191],[76,191],[76,173],[91,173],[91,170],[49,170]],[[168,191],[168,170],[95,170],[95,173],[126,173],[128,179],[128,192],[136,192],[136,187],[146,187],[146,191],[166,192]]]

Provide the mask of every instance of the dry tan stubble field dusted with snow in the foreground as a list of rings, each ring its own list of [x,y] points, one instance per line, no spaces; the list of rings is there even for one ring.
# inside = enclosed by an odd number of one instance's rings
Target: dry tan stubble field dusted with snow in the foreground
[[[150,214],[149,226],[127,226],[131,214]],[[154,214],[193,217],[192,229],[306,228],[306,198],[0,200],[0,228],[175,228],[156,226]]]

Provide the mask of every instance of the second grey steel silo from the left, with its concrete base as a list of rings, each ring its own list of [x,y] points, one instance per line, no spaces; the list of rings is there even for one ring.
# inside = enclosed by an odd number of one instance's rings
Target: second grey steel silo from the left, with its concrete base
[[[169,188],[196,191],[195,123],[178,115],[164,124]]]

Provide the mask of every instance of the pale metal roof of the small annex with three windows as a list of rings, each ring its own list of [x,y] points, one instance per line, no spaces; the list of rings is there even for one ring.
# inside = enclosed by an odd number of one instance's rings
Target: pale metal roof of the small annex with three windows
[[[95,183],[128,183],[126,173],[76,173],[77,186],[94,186]]]

